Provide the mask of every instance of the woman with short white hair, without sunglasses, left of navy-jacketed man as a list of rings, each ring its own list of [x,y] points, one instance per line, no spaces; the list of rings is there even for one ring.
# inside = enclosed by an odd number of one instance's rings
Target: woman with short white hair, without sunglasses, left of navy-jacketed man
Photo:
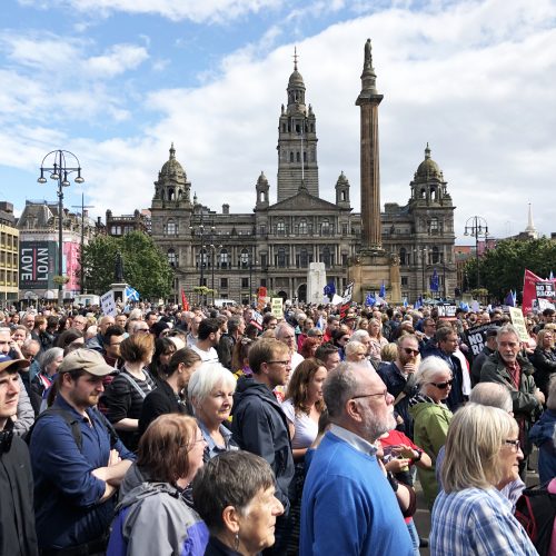
[[[202,364],[189,379],[188,397],[207,441],[205,461],[222,451],[239,449],[231,431],[222,425],[231,413],[236,384],[234,375],[219,363]]]

